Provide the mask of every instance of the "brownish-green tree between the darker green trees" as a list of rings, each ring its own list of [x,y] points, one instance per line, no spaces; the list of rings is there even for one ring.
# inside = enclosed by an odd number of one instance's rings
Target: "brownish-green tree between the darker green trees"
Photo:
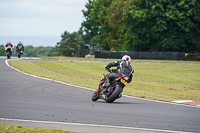
[[[109,1],[111,2],[111,1]],[[104,37],[108,40],[110,50],[121,51],[126,50],[123,43],[123,16],[128,6],[129,0],[114,0],[111,3],[105,4],[105,13],[100,15],[102,18],[102,27],[105,27]],[[107,25],[107,26],[104,26]]]

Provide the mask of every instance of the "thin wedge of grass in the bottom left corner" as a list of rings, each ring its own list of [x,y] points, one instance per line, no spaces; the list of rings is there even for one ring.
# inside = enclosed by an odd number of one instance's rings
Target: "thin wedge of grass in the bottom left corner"
[[[72,133],[70,131],[0,124],[0,133]]]

